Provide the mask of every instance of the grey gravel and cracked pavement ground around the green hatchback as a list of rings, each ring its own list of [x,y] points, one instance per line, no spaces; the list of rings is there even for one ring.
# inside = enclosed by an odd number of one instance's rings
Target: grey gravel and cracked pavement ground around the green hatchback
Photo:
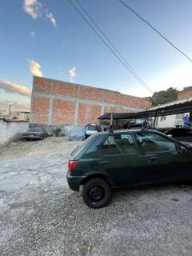
[[[0,255],[192,255],[192,186],[116,190],[94,210],[66,183],[78,142],[46,138],[0,150]]]

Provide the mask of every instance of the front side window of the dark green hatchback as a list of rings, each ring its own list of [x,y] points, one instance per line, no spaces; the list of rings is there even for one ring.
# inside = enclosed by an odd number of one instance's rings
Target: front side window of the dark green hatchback
[[[138,141],[141,143],[142,150],[147,153],[173,152],[177,148],[171,140],[160,134],[137,133]]]

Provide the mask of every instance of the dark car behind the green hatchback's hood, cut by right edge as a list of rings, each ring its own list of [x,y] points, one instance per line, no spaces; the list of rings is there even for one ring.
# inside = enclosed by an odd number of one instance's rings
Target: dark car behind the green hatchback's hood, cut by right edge
[[[158,131],[180,142],[192,142],[192,130],[190,128],[158,128]]]

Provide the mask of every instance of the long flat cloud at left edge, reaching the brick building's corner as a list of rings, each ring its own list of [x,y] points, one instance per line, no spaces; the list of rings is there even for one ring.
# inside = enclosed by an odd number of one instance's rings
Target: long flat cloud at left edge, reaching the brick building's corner
[[[5,90],[10,94],[20,94],[30,98],[31,90],[25,86],[20,86],[10,81],[0,81],[0,89]]]

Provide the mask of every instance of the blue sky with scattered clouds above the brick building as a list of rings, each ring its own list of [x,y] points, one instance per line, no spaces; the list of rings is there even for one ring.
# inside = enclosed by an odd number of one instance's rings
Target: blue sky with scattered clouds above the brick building
[[[153,91],[192,85],[192,62],[118,0],[78,1]],[[192,58],[191,0],[124,2]],[[0,33],[0,109],[29,109],[33,74],[151,96],[68,0],[1,1]]]

